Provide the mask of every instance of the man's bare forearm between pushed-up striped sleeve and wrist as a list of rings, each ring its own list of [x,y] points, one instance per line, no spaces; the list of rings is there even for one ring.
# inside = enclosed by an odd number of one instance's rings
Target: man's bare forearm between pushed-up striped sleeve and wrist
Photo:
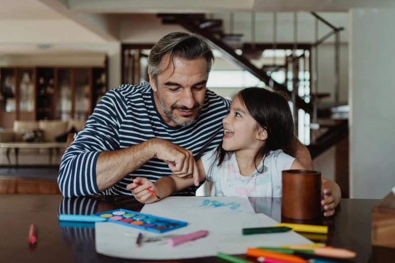
[[[122,150],[101,152],[96,163],[97,188],[103,191],[111,187],[153,157],[152,140]]]

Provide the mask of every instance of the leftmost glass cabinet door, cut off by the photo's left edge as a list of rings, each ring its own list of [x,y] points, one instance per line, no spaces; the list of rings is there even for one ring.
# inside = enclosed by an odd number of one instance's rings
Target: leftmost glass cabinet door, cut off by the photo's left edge
[[[4,98],[3,111],[16,112],[16,70],[3,68],[0,72],[0,91]]]

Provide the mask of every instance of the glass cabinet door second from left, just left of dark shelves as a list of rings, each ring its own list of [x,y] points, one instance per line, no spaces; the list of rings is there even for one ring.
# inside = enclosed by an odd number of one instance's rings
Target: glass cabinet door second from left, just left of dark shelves
[[[34,70],[19,70],[19,110],[34,111]]]

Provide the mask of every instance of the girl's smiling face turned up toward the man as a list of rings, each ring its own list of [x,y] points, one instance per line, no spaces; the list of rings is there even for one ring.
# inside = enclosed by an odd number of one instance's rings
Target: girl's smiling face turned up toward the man
[[[259,127],[250,115],[240,96],[235,97],[229,107],[228,115],[223,118],[224,136],[222,148],[225,151],[255,150],[262,146],[262,133],[266,131]]]

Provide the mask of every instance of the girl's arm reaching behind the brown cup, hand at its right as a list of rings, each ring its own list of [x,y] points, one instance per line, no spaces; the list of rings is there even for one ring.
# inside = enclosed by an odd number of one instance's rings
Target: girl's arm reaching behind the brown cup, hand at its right
[[[291,170],[306,170],[306,168],[298,160],[295,160],[291,166]],[[321,205],[325,211],[324,216],[330,217],[334,214],[334,209],[340,203],[342,193],[337,183],[325,177],[322,178],[322,188],[323,200],[321,200]]]

